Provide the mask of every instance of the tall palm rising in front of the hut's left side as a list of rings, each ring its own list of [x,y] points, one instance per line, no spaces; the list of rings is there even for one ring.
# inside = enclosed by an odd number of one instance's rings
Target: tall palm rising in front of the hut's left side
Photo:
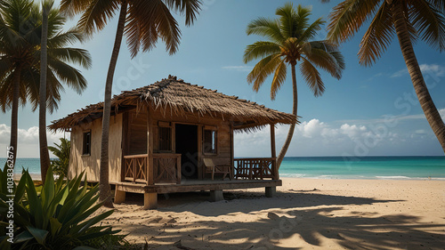
[[[196,19],[199,0],[61,0],[61,10],[70,16],[82,13],[78,26],[89,36],[101,30],[120,7],[117,32],[109,61],[105,82],[101,134],[100,200],[104,206],[112,207],[109,189],[109,116],[111,111],[111,89],[122,38],[125,34],[132,57],[142,48],[150,51],[160,37],[166,50],[173,54],[180,44],[181,31],[171,10],[185,13],[185,24]]]

